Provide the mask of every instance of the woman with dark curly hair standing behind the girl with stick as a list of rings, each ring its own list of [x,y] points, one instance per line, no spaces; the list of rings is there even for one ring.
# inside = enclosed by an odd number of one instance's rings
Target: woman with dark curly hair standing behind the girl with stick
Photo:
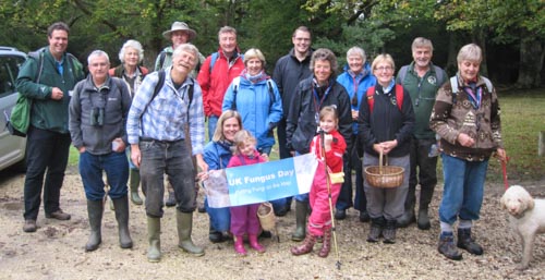
[[[344,86],[336,78],[337,58],[329,49],[317,49],[311,58],[313,74],[302,80],[295,95],[291,99],[287,118],[287,147],[292,155],[303,155],[311,150],[311,141],[318,133],[319,111],[326,106],[336,109],[339,118],[339,132],[350,145],[352,135],[352,117],[350,112],[350,97]],[[336,202],[332,202],[334,204]],[[317,236],[306,234],[306,215],[308,214],[308,195],[295,196],[296,228],[292,233],[293,241],[305,240],[303,246],[312,247]],[[308,224],[313,227],[313,224]],[[305,238],[306,235],[306,238]],[[324,246],[329,246],[330,231],[324,234]],[[299,248],[296,252],[305,252]]]

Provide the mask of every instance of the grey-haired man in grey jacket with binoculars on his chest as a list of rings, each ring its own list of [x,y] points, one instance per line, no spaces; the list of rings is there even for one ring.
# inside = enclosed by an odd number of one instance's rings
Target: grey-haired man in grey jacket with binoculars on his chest
[[[133,246],[129,234],[129,199],[126,181],[129,162],[125,156],[126,114],[131,108],[131,94],[125,83],[108,75],[110,60],[101,50],[89,54],[89,76],[76,84],[70,101],[70,133],[74,147],[80,151],[82,175],[90,235],[85,251],[95,251],[101,242],[106,171],[119,227],[122,248]]]

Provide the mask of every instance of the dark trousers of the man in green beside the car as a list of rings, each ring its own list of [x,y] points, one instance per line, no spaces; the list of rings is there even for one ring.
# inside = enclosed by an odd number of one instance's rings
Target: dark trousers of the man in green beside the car
[[[70,134],[28,127],[26,141],[26,178],[24,186],[25,220],[38,218],[44,187],[44,209],[47,214],[59,210],[61,186],[66,169]],[[46,175],[47,170],[47,175]],[[44,182],[44,176],[46,180]]]

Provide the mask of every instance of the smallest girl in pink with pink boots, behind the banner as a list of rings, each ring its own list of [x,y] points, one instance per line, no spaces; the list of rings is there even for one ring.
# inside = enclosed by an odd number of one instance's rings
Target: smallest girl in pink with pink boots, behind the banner
[[[246,130],[241,130],[234,134],[233,156],[229,160],[228,168],[254,165],[267,161],[267,158],[259,156],[255,149],[256,139]],[[243,235],[247,233],[250,247],[258,253],[265,253],[265,247],[257,241],[262,229],[257,218],[259,204],[233,206],[231,211],[231,233],[234,235],[234,251],[240,256],[246,255]]]

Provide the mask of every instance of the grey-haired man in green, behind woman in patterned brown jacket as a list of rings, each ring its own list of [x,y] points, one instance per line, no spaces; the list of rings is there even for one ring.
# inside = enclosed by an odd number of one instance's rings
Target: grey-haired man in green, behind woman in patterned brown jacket
[[[416,122],[411,141],[411,176],[404,212],[398,219],[398,227],[404,228],[417,221],[421,230],[431,228],[428,206],[437,184],[437,139],[429,129],[429,114],[439,87],[447,81],[447,73],[432,63],[434,47],[429,39],[417,37],[412,46],[413,62],[402,66],[397,83],[403,85],[411,95]],[[417,220],[414,215],[416,185],[420,184]]]

